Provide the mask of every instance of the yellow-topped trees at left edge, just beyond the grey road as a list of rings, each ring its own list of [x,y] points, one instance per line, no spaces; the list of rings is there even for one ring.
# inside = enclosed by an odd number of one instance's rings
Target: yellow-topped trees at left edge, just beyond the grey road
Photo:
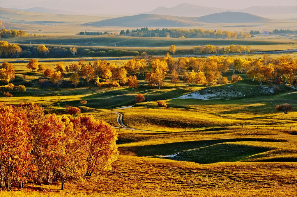
[[[0,57],[20,57],[23,49],[17,44],[8,44],[7,41],[0,41]]]

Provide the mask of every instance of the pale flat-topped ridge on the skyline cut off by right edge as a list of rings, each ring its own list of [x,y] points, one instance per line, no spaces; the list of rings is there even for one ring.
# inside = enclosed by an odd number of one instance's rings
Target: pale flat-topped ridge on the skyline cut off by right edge
[[[255,15],[297,14],[297,6],[252,6],[237,11]]]

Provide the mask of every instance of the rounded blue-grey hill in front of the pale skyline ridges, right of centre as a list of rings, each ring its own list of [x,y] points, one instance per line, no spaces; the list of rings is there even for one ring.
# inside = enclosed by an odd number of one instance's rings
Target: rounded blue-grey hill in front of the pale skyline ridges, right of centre
[[[198,21],[202,23],[265,23],[273,20],[244,12],[221,12],[198,17]]]

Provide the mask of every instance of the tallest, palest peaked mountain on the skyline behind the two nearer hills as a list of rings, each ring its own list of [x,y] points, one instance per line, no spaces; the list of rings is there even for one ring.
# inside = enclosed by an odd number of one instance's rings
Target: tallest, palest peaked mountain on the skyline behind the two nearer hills
[[[158,7],[151,12],[145,14],[157,14],[157,15],[172,15],[172,16],[203,16],[208,14],[214,14],[218,12],[232,11],[231,9],[222,9],[215,7],[203,7],[194,4],[179,4],[175,7]]]

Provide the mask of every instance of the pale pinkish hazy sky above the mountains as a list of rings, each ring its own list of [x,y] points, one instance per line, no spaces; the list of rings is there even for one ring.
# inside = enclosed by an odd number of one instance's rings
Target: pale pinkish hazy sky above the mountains
[[[250,6],[297,6],[297,0],[0,0],[0,7],[31,8],[47,7],[72,11],[81,11],[94,14],[137,14],[149,12],[159,6],[173,7],[181,3],[196,4],[199,6],[241,9]]]

